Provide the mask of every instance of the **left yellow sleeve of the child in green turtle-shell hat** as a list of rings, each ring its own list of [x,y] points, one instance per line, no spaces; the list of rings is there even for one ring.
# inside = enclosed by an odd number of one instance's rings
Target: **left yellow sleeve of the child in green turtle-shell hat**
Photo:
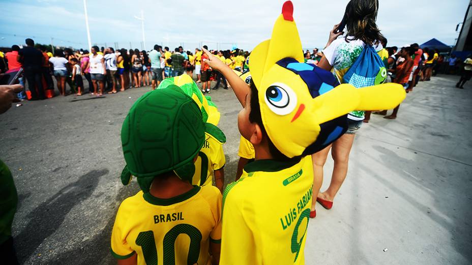
[[[111,231],[111,254],[117,259],[127,259],[134,255],[134,250],[126,241],[129,229],[125,226],[130,213],[126,210],[126,200],[116,213],[115,223]]]

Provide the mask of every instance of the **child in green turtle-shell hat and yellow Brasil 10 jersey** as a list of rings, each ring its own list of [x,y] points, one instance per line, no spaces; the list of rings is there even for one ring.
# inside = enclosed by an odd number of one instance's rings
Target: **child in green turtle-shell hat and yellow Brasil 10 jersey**
[[[191,184],[206,128],[198,105],[175,85],[147,92],[131,108],[121,178],[127,184],[135,176],[141,191],[123,201],[113,225],[111,253],[123,264],[219,263],[221,193]]]

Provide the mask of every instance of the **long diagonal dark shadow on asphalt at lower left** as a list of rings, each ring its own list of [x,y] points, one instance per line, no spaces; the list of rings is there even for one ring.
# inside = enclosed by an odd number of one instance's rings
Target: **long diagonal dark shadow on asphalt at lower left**
[[[102,169],[82,175],[76,182],[65,186],[28,214],[27,219],[30,222],[14,238],[18,260],[21,263],[24,263],[38,246],[61,226],[75,205],[92,195],[99,178],[106,174],[108,170]]]

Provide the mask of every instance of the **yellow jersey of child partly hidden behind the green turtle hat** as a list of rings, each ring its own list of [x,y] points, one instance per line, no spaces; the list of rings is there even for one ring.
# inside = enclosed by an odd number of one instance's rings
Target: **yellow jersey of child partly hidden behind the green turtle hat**
[[[222,169],[225,163],[223,144],[207,136],[195,161],[195,175],[193,175],[192,184],[212,185],[214,171]]]

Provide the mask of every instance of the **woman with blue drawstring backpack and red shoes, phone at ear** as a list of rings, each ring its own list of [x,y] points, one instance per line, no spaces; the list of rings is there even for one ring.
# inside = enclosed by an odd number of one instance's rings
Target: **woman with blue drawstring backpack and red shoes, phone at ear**
[[[346,6],[343,20],[340,24],[335,25],[330,32],[328,44],[322,51],[323,56],[318,63],[318,67],[332,71],[340,83],[350,83],[358,88],[374,85],[374,83],[383,83],[387,77],[387,71],[380,57],[376,54],[376,52],[383,49],[380,40],[384,38],[375,22],[377,11],[378,0],[351,0]],[[344,34],[344,26],[346,27],[346,34],[338,39]],[[365,65],[377,64],[379,66],[376,72],[373,72],[373,77],[359,75],[359,71],[357,71],[358,67],[365,68]],[[369,68],[369,66],[367,67]],[[382,67],[384,68],[382,69]],[[372,82],[372,84],[369,82]],[[363,119],[363,111],[350,113],[348,115],[349,127],[346,134],[332,145],[312,155],[314,170],[313,194],[317,194],[316,201],[326,209],[331,209],[333,206],[334,197],[346,178],[349,152],[356,131],[361,127]],[[331,184],[326,191],[319,192],[323,182],[323,166],[330,149],[334,160]],[[310,214],[312,218],[316,216],[316,201],[313,200],[312,202]]]

